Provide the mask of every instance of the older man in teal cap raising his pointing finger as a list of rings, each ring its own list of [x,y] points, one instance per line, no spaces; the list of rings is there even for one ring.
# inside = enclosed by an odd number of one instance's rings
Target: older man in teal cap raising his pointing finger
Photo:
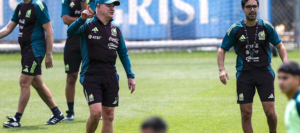
[[[80,36],[82,66],[80,83],[88,102],[90,116],[86,122],[86,132],[94,133],[102,114],[102,133],[113,133],[114,109],[119,105],[119,75],[116,73],[116,58],[126,71],[128,87],[135,90],[134,74],[122,31],[113,23],[114,7],[118,0],[96,0],[96,15],[91,18],[88,11],[67,29],[67,34]],[[88,19],[90,18],[90,19]]]

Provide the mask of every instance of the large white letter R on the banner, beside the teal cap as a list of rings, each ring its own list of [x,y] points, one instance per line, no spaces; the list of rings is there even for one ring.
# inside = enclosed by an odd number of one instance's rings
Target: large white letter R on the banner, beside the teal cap
[[[154,20],[150,16],[149,12],[146,10],[152,3],[152,0],[143,0],[142,5],[137,5],[137,0],[128,0],[128,18],[129,24],[137,25],[137,14],[143,19],[146,25],[155,25]]]

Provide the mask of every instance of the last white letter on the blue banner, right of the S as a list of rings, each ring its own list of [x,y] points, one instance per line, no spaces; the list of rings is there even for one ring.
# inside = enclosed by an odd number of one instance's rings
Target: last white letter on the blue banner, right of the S
[[[208,24],[208,0],[199,0],[200,24]]]

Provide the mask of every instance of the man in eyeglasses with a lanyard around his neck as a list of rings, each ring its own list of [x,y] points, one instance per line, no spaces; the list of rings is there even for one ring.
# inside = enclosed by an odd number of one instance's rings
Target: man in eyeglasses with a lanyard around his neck
[[[226,85],[229,76],[224,67],[225,52],[232,46],[236,59],[236,98],[240,104],[241,123],[245,133],[253,133],[252,103],[255,88],[259,94],[270,133],[277,128],[277,115],[274,108],[274,79],[271,68],[270,44],[274,45],[283,63],[288,62],[286,49],[272,24],[256,18],[258,0],[242,0],[245,18],[234,23],[228,29],[217,53],[220,80]]]

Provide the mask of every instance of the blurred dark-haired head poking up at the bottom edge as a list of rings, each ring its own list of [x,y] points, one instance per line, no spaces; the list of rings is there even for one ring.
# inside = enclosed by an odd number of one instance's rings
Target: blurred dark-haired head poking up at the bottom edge
[[[165,133],[167,124],[159,117],[151,117],[142,124],[141,133]]]

